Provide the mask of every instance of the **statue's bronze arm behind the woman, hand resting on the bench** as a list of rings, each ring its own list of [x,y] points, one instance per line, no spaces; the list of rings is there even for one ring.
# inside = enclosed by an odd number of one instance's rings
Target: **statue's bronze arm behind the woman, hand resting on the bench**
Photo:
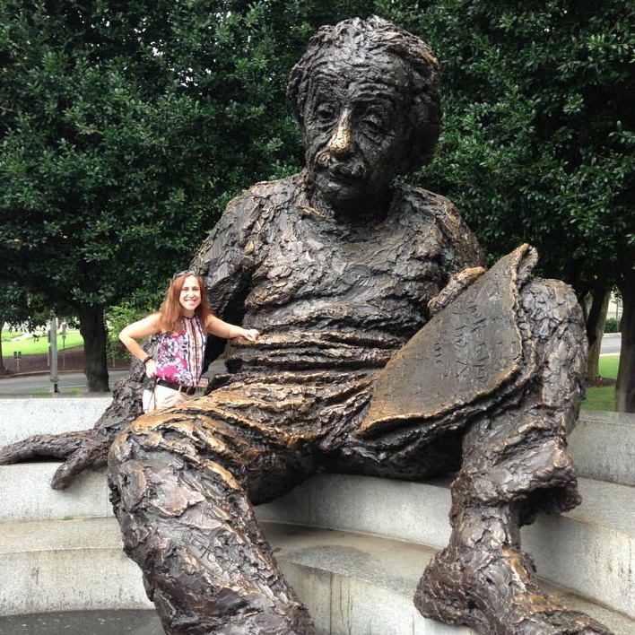
[[[205,239],[192,268],[204,275],[212,307],[222,318],[241,315],[241,294],[255,257],[258,204],[249,193],[234,199],[217,226]],[[62,458],[51,486],[65,489],[86,468],[106,465],[109,448],[118,434],[142,413],[143,364],[134,360],[127,378],[120,382],[112,403],[90,430],[56,435],[35,435],[0,449],[0,465],[32,458]]]

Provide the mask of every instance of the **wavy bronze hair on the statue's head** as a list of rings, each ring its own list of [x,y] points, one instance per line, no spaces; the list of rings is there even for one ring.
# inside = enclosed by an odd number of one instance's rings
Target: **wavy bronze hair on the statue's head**
[[[300,128],[313,69],[323,62],[330,48],[364,47],[370,53],[390,53],[410,69],[409,119],[412,133],[407,159],[399,172],[408,173],[431,160],[441,129],[439,61],[431,48],[412,33],[377,16],[353,18],[324,26],[309,40],[307,51],[291,69],[287,95]]]

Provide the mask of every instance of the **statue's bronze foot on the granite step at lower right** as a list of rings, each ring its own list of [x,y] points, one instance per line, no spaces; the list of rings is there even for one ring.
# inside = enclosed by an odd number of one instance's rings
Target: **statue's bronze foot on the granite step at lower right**
[[[610,635],[585,613],[546,596],[532,579],[526,553],[504,548],[457,555],[452,548],[431,561],[414,594],[425,617],[466,624],[486,635]]]

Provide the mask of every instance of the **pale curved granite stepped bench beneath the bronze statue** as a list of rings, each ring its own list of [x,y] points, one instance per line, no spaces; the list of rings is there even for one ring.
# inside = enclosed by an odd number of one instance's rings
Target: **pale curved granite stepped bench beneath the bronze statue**
[[[0,446],[85,429],[108,404],[2,400]],[[598,603],[567,596],[568,604],[618,635],[634,633],[635,416],[583,413],[570,449],[580,474],[605,482],[581,479],[583,504],[526,527],[523,546],[541,577]],[[140,571],[121,551],[103,470],[53,491],[58,465],[0,467],[0,615],[150,606]],[[412,605],[431,548],[448,541],[448,483],[323,474],[257,509],[261,521],[274,521],[266,532],[320,633],[470,632],[425,621]]]

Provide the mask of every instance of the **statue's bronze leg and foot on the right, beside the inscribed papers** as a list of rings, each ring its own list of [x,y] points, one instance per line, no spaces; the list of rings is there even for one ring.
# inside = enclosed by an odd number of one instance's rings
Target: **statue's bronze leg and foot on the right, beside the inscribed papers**
[[[517,404],[500,404],[467,429],[452,483],[452,535],[414,597],[427,616],[483,633],[606,633],[587,615],[545,596],[520,526],[540,510],[571,509],[579,498],[566,431],[578,414],[585,347],[576,299],[561,283],[522,291],[539,372]]]

